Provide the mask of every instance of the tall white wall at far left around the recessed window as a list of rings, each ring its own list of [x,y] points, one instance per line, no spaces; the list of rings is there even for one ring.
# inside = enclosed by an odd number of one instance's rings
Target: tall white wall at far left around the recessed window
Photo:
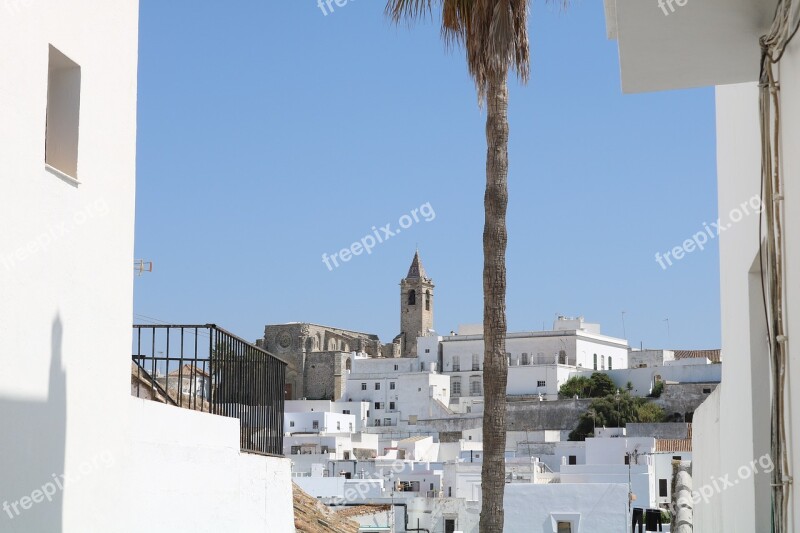
[[[137,26],[135,0],[0,5],[0,501],[92,472],[4,532],[112,531],[129,504],[91,465],[127,426]],[[45,170],[50,44],[82,69],[79,186]]]

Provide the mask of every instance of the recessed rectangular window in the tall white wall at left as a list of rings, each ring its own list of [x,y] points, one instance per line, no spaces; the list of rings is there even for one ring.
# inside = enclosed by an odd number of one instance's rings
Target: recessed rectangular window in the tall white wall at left
[[[75,180],[78,179],[80,108],[81,67],[51,46],[44,162]]]

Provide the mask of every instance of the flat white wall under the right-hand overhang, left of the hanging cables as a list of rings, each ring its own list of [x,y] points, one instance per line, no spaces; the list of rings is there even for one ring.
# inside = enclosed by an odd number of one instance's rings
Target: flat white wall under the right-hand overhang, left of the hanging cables
[[[790,94],[782,92],[784,96]],[[760,192],[758,91],[755,84],[731,85],[718,87],[716,96],[719,214],[727,219],[731,209]],[[763,304],[760,276],[753,269],[758,264],[758,242],[757,216],[744,217],[719,237],[725,386],[719,391],[718,401],[725,408],[719,412],[720,438],[716,439],[713,431],[708,433],[709,439],[695,438],[695,463],[700,473],[700,477],[693,476],[695,487],[710,481],[705,475],[734,474],[767,451],[768,370],[759,342],[764,338],[760,330]],[[709,412],[704,408],[700,411]],[[708,414],[702,419],[714,422]],[[700,461],[707,461],[713,453],[719,454],[718,462],[700,466]],[[716,464],[719,470],[714,471]],[[770,523],[769,498],[768,480],[756,476],[740,480],[708,504],[701,502],[695,512],[704,523],[715,523],[714,517],[719,517],[721,530],[762,531]]]

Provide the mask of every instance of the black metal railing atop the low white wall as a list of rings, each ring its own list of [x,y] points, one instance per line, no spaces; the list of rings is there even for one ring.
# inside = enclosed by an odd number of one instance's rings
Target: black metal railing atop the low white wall
[[[285,361],[214,324],[134,325],[132,353],[133,395],[238,418],[242,450],[283,455]]]

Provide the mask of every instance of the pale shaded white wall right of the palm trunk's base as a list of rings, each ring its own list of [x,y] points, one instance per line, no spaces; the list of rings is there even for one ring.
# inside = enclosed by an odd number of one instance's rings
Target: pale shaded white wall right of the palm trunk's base
[[[628,485],[512,483],[505,490],[503,531],[556,533],[555,521],[571,521],[575,533],[628,530]]]

